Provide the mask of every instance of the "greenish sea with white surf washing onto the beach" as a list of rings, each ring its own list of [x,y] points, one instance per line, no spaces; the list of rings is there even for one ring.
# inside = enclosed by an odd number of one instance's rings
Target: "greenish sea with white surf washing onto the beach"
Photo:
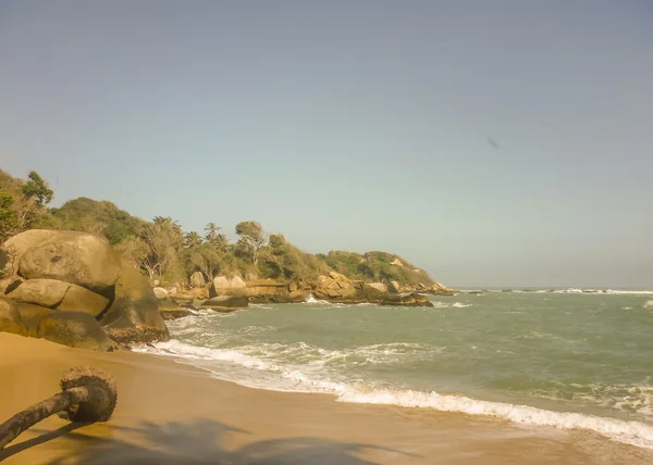
[[[653,291],[463,292],[434,307],[202,311],[136,348],[215,377],[341,402],[586,429],[653,449]]]

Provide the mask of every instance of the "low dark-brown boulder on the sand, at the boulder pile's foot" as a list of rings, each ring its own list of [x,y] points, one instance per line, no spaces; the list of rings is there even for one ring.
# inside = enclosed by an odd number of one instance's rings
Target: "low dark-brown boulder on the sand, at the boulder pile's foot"
[[[41,319],[38,337],[60,344],[110,351],[116,348],[100,324],[88,313],[53,312]]]

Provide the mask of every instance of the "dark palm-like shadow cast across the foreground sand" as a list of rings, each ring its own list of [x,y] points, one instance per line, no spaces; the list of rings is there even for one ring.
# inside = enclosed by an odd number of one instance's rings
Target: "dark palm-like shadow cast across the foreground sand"
[[[214,420],[189,423],[172,422],[158,425],[141,422],[138,427],[108,425],[109,432],[131,440],[98,438],[76,431],[79,426],[66,425],[56,431],[28,441],[10,445],[0,452],[0,461],[30,447],[56,438],[72,441],[66,455],[49,462],[67,464],[215,464],[215,465],[372,465],[360,457],[364,452],[374,456],[399,458],[415,456],[407,452],[373,444],[344,443],[316,438],[284,438],[248,442],[237,449],[227,449],[230,435],[248,435]],[[109,435],[111,436],[111,435]],[[378,455],[382,454],[382,455]],[[399,460],[399,462],[402,462]]]

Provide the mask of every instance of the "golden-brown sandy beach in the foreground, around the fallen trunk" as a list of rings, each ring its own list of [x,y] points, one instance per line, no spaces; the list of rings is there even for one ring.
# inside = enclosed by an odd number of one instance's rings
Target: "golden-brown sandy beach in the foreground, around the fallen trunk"
[[[652,450],[587,431],[249,389],[152,355],[9,334],[0,334],[0,422],[56,393],[63,370],[81,364],[115,375],[113,417],[48,418],[0,452],[3,465],[653,463]]]

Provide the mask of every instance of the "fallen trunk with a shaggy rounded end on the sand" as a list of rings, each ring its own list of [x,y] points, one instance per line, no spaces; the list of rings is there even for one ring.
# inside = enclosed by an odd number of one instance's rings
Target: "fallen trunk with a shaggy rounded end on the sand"
[[[0,425],[0,451],[21,432],[59,412],[71,422],[107,422],[118,399],[113,376],[90,366],[70,368],[61,378],[61,392],[32,405]]]

